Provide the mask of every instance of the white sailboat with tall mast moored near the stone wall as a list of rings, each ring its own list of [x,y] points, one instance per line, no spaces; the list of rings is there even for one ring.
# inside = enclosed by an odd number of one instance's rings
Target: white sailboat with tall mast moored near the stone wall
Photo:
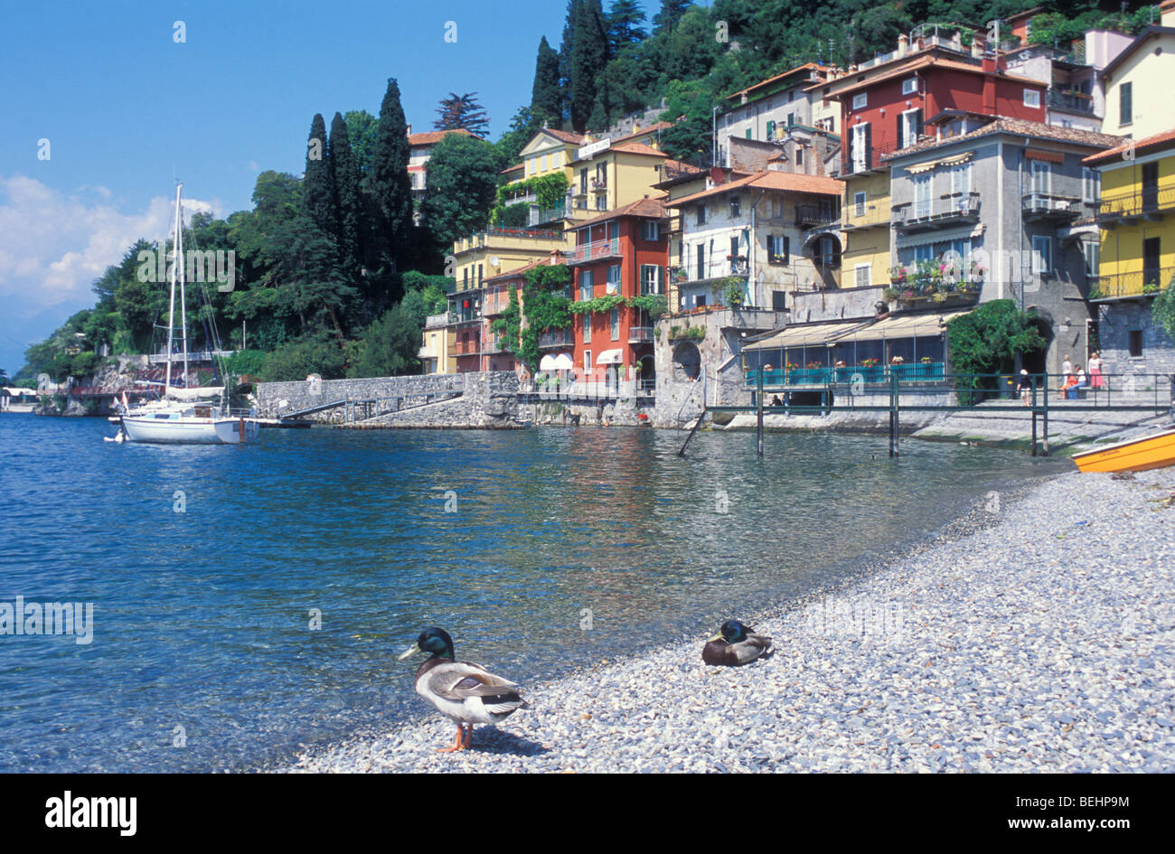
[[[167,316],[167,379],[163,399],[135,410],[125,410],[120,437],[128,442],[163,444],[237,445],[257,438],[261,425],[253,418],[233,416],[224,406],[202,398],[224,396],[224,386],[189,389],[188,385],[188,308],[184,298],[182,183],[175,187],[175,233],[172,251],[172,295]],[[175,341],[175,292],[180,291],[180,342]],[[179,350],[179,352],[177,352]],[[172,385],[173,362],[182,357],[182,385]]]

